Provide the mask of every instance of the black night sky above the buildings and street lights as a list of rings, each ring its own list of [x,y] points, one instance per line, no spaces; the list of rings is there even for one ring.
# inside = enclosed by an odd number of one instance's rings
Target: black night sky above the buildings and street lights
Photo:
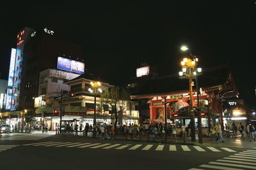
[[[49,27],[84,48],[86,69],[122,85],[141,62],[159,75],[180,70],[188,45],[200,66],[229,65],[240,97],[256,106],[256,1],[86,1],[1,5],[0,72],[8,76],[11,48],[23,27]],[[34,3],[36,4],[36,3]]]

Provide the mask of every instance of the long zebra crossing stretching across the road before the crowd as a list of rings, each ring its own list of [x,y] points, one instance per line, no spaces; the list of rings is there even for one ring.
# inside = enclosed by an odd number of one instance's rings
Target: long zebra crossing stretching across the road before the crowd
[[[193,145],[168,145],[168,144],[121,144],[121,143],[72,143],[60,141],[47,141],[40,143],[28,143],[23,146],[44,146],[56,148],[91,148],[91,149],[113,149],[113,150],[141,150],[141,151],[169,151],[169,152],[236,152],[230,148],[214,148],[212,146],[193,146]],[[240,156],[240,155],[237,155]],[[256,157],[255,157],[256,159]]]

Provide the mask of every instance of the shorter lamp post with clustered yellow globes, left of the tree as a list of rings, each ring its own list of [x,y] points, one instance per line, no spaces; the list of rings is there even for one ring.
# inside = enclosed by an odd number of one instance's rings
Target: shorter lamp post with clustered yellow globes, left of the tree
[[[91,81],[91,86],[92,89],[89,88],[89,92],[94,94],[94,115],[93,115],[93,138],[96,138],[96,94],[98,94],[99,92],[102,92],[102,89],[100,89],[101,87],[101,83],[99,81]]]

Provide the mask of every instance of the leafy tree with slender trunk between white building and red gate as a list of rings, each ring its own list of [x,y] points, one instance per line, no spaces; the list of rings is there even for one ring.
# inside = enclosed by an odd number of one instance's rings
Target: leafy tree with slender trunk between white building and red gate
[[[116,131],[116,124],[118,122],[118,115],[117,115],[117,104],[124,105],[125,102],[130,101],[131,97],[129,93],[123,87],[111,87],[108,91],[102,92],[100,95],[100,101],[102,103],[109,104],[111,106],[112,114],[115,114],[115,131]],[[122,108],[124,109],[124,108]]]

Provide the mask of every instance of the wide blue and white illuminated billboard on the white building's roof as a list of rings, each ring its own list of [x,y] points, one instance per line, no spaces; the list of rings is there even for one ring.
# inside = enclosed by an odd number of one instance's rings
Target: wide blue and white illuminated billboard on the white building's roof
[[[65,71],[71,71],[78,74],[84,74],[84,63],[76,60],[65,59],[63,57],[58,57],[57,63],[58,69],[63,69]]]

